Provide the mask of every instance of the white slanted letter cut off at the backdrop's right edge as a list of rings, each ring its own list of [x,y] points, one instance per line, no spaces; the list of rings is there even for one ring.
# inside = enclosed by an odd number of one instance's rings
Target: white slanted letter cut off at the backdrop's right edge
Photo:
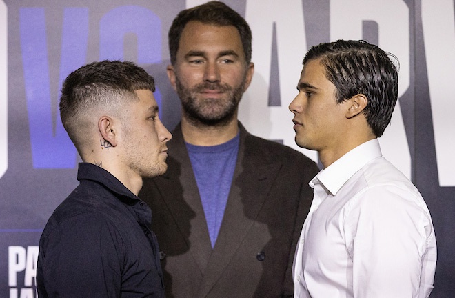
[[[423,38],[440,186],[455,186],[454,1],[422,0]]]

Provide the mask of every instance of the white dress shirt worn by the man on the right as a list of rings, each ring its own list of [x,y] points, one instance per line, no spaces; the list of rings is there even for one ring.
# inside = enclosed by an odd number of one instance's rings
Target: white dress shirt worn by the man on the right
[[[321,170],[294,257],[294,297],[428,297],[436,268],[432,219],[377,139]]]

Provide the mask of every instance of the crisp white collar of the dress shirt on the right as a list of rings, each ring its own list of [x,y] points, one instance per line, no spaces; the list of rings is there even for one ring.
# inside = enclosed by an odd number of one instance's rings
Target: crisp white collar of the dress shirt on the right
[[[352,175],[365,166],[366,163],[381,156],[382,152],[378,139],[366,141],[347,152],[327,168],[321,170],[312,179],[310,186],[314,188],[315,185],[321,184],[325,190],[332,195],[336,195],[336,192]]]

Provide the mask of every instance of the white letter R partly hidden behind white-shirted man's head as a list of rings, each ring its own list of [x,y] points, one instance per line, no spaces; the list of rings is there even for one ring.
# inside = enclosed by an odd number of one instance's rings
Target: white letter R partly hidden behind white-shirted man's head
[[[363,39],[362,22],[378,23],[378,46],[392,52],[400,61],[398,97],[410,86],[410,16],[403,1],[332,0],[330,1],[330,39]],[[396,105],[390,127],[380,138],[383,155],[408,178],[411,155],[401,107]]]

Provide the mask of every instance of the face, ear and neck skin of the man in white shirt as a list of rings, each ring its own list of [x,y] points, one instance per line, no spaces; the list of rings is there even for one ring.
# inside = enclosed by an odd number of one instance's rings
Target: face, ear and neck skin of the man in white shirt
[[[355,95],[336,103],[336,87],[325,77],[321,59],[305,63],[297,90],[290,103],[294,113],[295,141],[302,148],[316,150],[324,168],[375,136],[362,111],[367,97]]]

